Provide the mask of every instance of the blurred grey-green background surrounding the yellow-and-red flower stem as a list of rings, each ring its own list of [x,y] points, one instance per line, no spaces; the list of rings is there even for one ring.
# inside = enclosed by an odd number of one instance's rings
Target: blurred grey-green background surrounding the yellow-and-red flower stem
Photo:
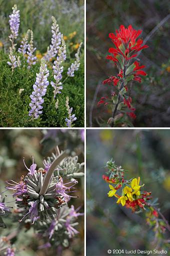
[[[161,213],[170,221],[170,131],[86,132],[86,255],[105,256],[108,249],[153,250],[154,233],[144,216],[117,205],[116,198],[109,198],[110,189],[102,175],[112,158],[116,165],[128,170],[124,174],[127,179],[140,176],[144,190],[158,198]],[[168,237],[165,233],[165,239]]]

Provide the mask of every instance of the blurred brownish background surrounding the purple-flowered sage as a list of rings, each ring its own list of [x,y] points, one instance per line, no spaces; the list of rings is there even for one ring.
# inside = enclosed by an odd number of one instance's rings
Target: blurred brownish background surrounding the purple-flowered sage
[[[48,130],[51,143],[47,148],[42,146],[40,141],[46,134],[47,130],[0,130],[0,192],[3,192],[5,181],[14,180],[18,182],[21,175],[26,175],[27,170],[23,165],[22,158],[25,158],[25,163],[27,166],[31,165],[31,156],[34,157],[34,162],[37,164],[37,168],[43,167],[43,158],[51,156],[54,152],[54,145],[52,147],[53,136],[59,136],[54,130]],[[58,130],[55,130],[58,131]],[[63,131],[63,130],[62,130]],[[63,150],[65,148],[68,131],[63,132],[63,141],[59,145],[59,149]],[[72,130],[72,133],[76,131]],[[79,130],[80,133],[80,130]],[[84,161],[84,150],[83,141],[79,138],[76,141],[75,153],[78,156],[78,162],[82,163]],[[44,149],[46,147],[46,149]],[[49,150],[50,148],[50,150]],[[43,154],[42,152],[46,152]],[[82,170],[83,171],[83,170]],[[65,179],[64,179],[65,180]],[[66,180],[65,180],[66,182]],[[65,183],[64,182],[64,183]],[[5,194],[11,194],[10,191],[6,191]],[[4,195],[4,194],[3,194]],[[84,204],[84,179],[78,179],[78,184],[76,185],[76,196],[78,198],[72,198],[68,205],[74,205],[75,209],[81,206],[80,212],[83,212]],[[12,197],[7,197],[5,202],[12,201]],[[7,206],[14,206],[13,203],[7,204]],[[77,234],[74,239],[70,242],[70,247],[66,248],[62,252],[62,256],[83,256],[84,255],[84,220],[83,216],[78,218],[79,224],[77,225]],[[8,217],[3,217],[7,228],[0,229],[0,236],[7,236],[11,234],[17,228],[17,221],[12,222],[12,214]],[[37,239],[37,236],[33,232],[33,228],[30,228],[25,232],[25,229],[21,229],[20,232],[14,237],[11,242],[17,249],[16,256],[53,256],[56,255],[56,250],[52,248],[38,250],[37,247],[43,244],[43,240]]]

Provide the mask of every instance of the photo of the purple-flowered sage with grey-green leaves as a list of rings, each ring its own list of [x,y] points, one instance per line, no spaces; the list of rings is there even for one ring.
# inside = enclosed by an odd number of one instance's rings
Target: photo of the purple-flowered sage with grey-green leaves
[[[0,256],[84,255],[83,130],[0,130]]]

